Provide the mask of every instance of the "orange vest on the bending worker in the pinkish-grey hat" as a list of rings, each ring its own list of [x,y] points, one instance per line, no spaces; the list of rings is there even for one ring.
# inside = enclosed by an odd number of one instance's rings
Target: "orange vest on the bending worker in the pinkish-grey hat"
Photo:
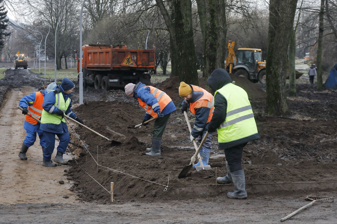
[[[157,101],[158,103],[149,106],[147,105],[145,102],[143,102],[139,97],[137,97],[138,99],[138,102],[139,104],[141,105],[141,107],[143,107],[145,110],[146,110],[146,113],[147,114],[150,114],[152,117],[157,117],[157,113],[153,111],[153,109],[157,106],[160,106],[160,112],[166,107],[166,105],[168,103],[170,103],[172,100],[171,98],[163,91],[153,87],[153,86],[150,86],[150,85],[147,85],[147,86],[143,86],[141,88],[144,88],[144,87],[150,87],[150,91],[151,91],[151,94],[157,98]],[[139,89],[141,89],[139,88]]]

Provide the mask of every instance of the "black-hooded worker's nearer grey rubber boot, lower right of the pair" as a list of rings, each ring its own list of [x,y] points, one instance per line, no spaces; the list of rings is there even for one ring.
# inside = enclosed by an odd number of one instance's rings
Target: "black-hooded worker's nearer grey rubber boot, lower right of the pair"
[[[245,190],[245,187],[246,187],[245,171],[238,170],[238,171],[232,172],[231,176],[232,176],[235,191],[228,192],[227,197],[235,198],[235,199],[247,198],[247,192]]]

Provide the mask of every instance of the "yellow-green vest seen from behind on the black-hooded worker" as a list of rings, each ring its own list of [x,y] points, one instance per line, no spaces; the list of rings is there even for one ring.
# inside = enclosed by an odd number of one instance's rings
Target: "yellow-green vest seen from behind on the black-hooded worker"
[[[218,142],[227,143],[257,134],[254,114],[244,89],[228,83],[214,94],[227,100],[226,119],[218,128]]]

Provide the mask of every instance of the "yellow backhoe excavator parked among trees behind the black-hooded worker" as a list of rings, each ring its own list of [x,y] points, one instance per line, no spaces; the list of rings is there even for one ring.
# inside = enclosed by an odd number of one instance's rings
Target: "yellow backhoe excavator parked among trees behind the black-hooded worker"
[[[225,68],[227,72],[245,77],[252,82],[266,83],[266,60],[262,60],[262,50],[238,48],[234,52],[235,41],[228,40]]]

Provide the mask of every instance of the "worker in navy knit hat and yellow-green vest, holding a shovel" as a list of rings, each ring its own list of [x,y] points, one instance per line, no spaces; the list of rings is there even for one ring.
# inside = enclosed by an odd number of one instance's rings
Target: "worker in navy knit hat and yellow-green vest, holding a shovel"
[[[54,167],[55,163],[51,162],[52,154],[55,147],[55,135],[60,139],[57,146],[57,153],[54,162],[67,165],[68,162],[63,160],[63,154],[67,149],[70,137],[68,127],[64,120],[64,114],[75,119],[76,121],[84,124],[80,119],[71,111],[71,92],[74,89],[74,83],[64,77],[61,85],[57,85],[50,91],[43,100],[43,110],[41,116],[40,128],[45,136],[45,148],[43,151],[43,166]]]

